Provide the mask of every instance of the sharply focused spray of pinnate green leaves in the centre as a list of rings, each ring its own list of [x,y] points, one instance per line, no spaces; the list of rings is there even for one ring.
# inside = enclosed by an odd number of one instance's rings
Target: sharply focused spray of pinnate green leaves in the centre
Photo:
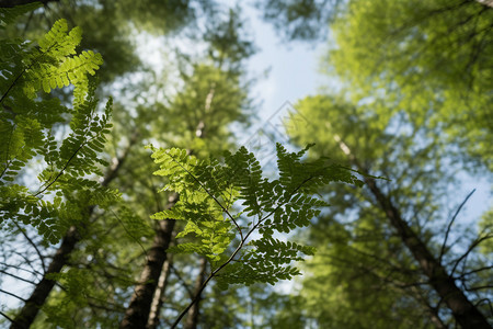
[[[185,220],[176,238],[195,236],[169,251],[205,256],[211,264],[209,277],[217,276],[222,287],[274,284],[298,275],[291,262],[314,249],[274,236],[308,226],[320,214],[318,208],[326,204],[311,196],[318,188],[334,181],[360,184],[351,170],[326,159],[303,161],[309,147],[291,154],[278,144],[275,180],[263,178],[259,161],[244,147],[226,152],[223,162],[199,160],[183,149],[150,148],[161,168],[154,174],[169,180],[163,190],[180,195],[172,208],[153,218]],[[231,251],[233,242],[238,245]]]

